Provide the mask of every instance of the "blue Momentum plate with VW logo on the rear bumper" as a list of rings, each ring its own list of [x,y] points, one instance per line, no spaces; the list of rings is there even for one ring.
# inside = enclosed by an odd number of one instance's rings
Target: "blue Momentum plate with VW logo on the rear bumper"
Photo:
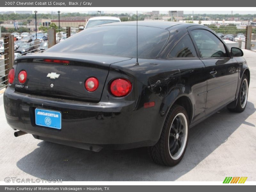
[[[36,125],[61,129],[61,113],[59,111],[35,109]]]

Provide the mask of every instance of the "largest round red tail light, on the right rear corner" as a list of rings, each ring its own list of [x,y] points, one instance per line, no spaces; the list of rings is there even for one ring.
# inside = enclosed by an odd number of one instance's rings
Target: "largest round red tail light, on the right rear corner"
[[[124,97],[132,90],[132,84],[126,79],[115,79],[110,84],[110,92],[116,97]]]

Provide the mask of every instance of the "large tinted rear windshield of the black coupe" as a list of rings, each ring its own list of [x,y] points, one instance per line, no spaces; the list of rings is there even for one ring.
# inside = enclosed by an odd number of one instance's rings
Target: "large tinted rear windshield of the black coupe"
[[[138,57],[153,59],[169,37],[161,28],[138,26]],[[136,57],[136,26],[100,26],[85,29],[46,52],[91,53],[120,57]]]

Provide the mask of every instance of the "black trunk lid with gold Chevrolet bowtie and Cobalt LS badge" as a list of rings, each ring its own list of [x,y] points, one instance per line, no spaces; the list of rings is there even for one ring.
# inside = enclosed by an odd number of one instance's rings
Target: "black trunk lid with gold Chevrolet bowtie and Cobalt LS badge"
[[[15,73],[15,91],[71,100],[99,102],[112,63],[131,58],[92,54],[42,53],[21,57]],[[64,60],[55,63],[53,60]],[[65,62],[69,61],[69,62]],[[27,72],[27,81],[20,84],[18,74]],[[85,89],[89,77],[99,80],[94,92]]]

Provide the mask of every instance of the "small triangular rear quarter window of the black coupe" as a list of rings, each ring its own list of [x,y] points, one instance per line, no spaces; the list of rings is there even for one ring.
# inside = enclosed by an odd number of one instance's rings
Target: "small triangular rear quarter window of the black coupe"
[[[195,47],[188,34],[180,39],[168,55],[168,59],[176,57],[197,57]]]

